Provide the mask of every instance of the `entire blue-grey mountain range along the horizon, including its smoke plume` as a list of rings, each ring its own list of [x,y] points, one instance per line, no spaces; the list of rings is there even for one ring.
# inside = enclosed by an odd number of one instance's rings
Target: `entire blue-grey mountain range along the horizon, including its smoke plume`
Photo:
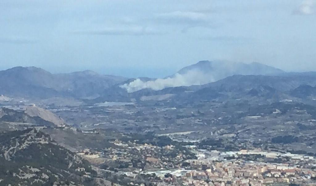
[[[37,67],[14,67],[0,71],[0,95],[28,99],[70,97],[88,104],[159,101],[173,99],[174,95],[179,95],[177,99],[272,94],[306,97],[315,95],[315,84],[316,73],[286,73],[256,62],[199,61],[163,79],[129,79],[88,70],[52,74]],[[307,94],[307,87],[303,85],[312,87]]]

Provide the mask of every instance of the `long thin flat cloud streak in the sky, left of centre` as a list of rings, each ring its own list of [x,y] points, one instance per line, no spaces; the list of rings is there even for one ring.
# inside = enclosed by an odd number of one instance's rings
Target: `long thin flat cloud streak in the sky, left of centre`
[[[154,30],[148,27],[112,27],[100,30],[88,30],[88,31],[75,31],[74,34],[82,34],[82,35],[161,35],[164,32]]]

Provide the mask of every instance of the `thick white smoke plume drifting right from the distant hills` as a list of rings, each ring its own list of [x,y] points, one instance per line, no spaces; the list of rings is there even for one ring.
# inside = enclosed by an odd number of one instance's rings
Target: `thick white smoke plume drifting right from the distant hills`
[[[162,90],[167,87],[201,85],[214,82],[215,79],[210,74],[202,73],[198,70],[191,70],[185,74],[176,73],[173,77],[156,79],[154,81],[142,81],[136,79],[130,83],[121,85],[127,92],[136,92],[142,89]]]

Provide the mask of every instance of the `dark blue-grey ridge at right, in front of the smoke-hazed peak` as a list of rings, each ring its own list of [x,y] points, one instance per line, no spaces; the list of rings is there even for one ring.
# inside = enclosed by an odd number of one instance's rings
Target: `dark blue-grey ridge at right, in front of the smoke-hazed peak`
[[[302,85],[314,86],[315,84],[316,78],[307,76],[234,75],[213,83],[191,87],[192,90],[197,90],[180,99],[212,100],[222,97],[223,99],[264,98],[280,101],[287,98],[300,98],[301,94],[298,92],[304,87]]]

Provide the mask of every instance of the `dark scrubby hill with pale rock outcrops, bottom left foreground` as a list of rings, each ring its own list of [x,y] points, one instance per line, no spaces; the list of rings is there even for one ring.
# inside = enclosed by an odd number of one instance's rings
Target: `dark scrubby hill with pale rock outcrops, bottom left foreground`
[[[92,185],[86,160],[35,129],[0,133],[0,185]],[[88,180],[88,181],[87,181]]]

